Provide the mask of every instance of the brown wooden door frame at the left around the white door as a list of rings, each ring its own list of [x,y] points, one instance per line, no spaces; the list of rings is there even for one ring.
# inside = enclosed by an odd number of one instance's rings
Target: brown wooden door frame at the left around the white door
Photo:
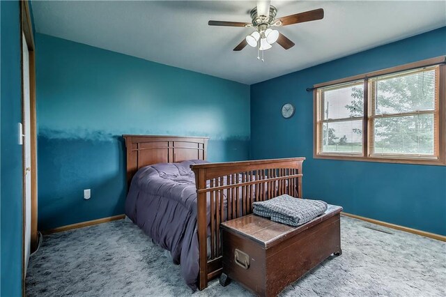
[[[37,231],[37,116],[36,116],[36,56],[35,44],[33,36],[33,27],[31,23],[31,13],[28,0],[20,1],[20,44],[22,45],[22,32],[26,40],[26,47],[29,51],[29,109],[30,109],[30,127],[31,127],[31,250],[34,252],[38,247],[38,231]],[[23,46],[23,45],[22,45]],[[23,90],[23,52],[21,52],[21,72],[22,72],[22,90]],[[24,93],[22,91],[22,123],[24,123]],[[25,146],[22,148],[23,153],[23,174],[26,173],[25,164]],[[24,176],[24,175],[23,175]],[[25,282],[25,220],[26,220],[26,191],[25,178],[23,178],[23,230],[22,230],[22,291],[24,294]]]

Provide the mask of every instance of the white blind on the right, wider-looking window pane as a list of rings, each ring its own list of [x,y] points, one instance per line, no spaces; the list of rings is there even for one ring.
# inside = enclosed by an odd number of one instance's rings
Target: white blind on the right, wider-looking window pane
[[[438,67],[369,79],[369,154],[438,158]]]

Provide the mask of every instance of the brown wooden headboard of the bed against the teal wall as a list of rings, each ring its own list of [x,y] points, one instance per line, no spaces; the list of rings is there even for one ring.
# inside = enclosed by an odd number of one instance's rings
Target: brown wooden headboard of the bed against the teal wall
[[[127,185],[138,169],[157,163],[206,160],[209,137],[123,135],[127,151]]]

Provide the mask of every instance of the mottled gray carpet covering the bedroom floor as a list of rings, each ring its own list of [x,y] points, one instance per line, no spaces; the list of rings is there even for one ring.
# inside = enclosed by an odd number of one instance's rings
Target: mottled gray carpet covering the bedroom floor
[[[444,242],[343,217],[341,245],[341,257],[325,260],[281,296],[446,296]],[[191,293],[164,250],[124,220],[45,236],[26,276],[26,296]],[[214,280],[192,296],[251,294]]]

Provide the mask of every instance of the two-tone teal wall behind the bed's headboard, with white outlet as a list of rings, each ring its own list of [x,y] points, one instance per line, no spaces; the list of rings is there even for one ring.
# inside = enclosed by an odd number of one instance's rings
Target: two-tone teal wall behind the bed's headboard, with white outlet
[[[39,33],[36,45],[39,229],[124,213],[122,134],[209,136],[210,161],[249,158],[249,86]]]

